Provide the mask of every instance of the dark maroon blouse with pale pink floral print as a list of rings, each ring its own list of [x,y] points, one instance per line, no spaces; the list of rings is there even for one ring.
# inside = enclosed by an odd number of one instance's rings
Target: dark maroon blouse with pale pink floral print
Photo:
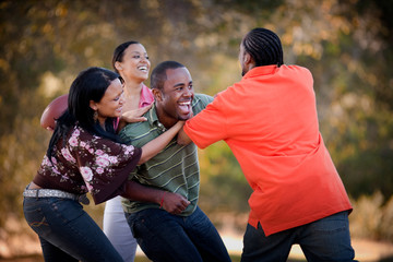
[[[142,150],[91,134],[79,126],[53,146],[51,162],[45,155],[33,181],[41,188],[92,194],[95,204],[123,192]]]

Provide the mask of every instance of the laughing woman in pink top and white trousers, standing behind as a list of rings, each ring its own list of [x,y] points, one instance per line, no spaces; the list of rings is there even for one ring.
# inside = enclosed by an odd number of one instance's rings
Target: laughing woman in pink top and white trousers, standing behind
[[[115,49],[112,67],[124,80],[124,105],[119,130],[129,119],[146,111],[154,102],[152,91],[143,84],[148,78],[151,62],[143,45],[126,41]],[[134,261],[138,243],[127,224],[120,196],[106,202],[103,229],[123,260]]]

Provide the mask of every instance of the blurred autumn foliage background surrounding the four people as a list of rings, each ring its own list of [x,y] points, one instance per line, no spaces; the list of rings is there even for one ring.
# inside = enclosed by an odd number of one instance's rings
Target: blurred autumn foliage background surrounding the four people
[[[214,95],[240,80],[239,44],[253,27],[277,33],[285,63],[314,76],[320,130],[354,204],[352,236],[370,243],[356,251],[393,250],[392,16],[393,1],[377,0],[0,1],[0,258],[40,253],[22,191],[50,139],[41,112],[81,70],[111,68],[114,49],[139,40],[152,68],[177,60]],[[200,206],[241,238],[251,190],[237,160],[223,142],[199,157]],[[86,210],[102,225],[104,204]]]

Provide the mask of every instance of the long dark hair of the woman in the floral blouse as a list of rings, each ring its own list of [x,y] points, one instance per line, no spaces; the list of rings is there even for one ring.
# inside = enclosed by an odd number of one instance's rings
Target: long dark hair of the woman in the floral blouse
[[[94,110],[90,107],[90,102],[98,103],[116,79],[122,81],[119,74],[104,68],[88,68],[79,73],[70,87],[68,109],[57,120],[50,139],[47,151],[49,159],[59,139],[62,138],[64,142],[69,131],[76,123],[92,134],[120,142],[114,127],[116,118],[107,118],[104,130],[98,121],[94,120]]]

